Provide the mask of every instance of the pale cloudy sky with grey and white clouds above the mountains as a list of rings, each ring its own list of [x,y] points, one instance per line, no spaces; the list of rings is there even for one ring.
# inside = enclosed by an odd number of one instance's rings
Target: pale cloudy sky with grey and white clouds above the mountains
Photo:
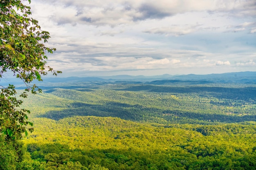
[[[256,71],[255,0],[31,0],[61,77]]]

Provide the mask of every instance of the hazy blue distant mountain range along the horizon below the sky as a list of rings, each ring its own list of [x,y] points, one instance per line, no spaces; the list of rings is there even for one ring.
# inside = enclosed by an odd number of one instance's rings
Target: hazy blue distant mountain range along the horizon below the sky
[[[221,73],[208,75],[114,75],[114,76],[99,76],[99,77],[53,77],[43,79],[43,82],[35,82],[36,84],[51,84],[51,83],[79,83],[79,82],[99,82],[99,83],[115,83],[115,84],[173,84],[173,83],[188,83],[188,84],[207,84],[207,83],[242,83],[256,84],[256,72],[235,72]],[[21,85],[24,83],[18,78],[4,79],[0,81],[0,85],[7,86],[8,84]]]

